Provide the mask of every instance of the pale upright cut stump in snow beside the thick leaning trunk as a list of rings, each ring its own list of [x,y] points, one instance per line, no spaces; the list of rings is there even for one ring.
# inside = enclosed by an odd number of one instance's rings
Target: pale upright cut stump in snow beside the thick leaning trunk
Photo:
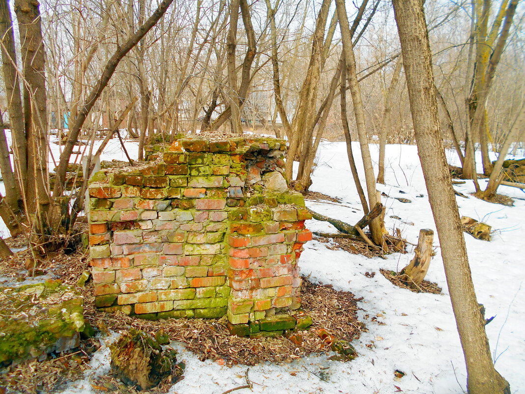
[[[419,239],[415,249],[415,256],[405,268],[401,270],[398,275],[402,281],[413,288],[417,289],[419,284],[423,282],[425,275],[430,266],[430,261],[434,254],[432,250],[432,242],[434,241],[434,231],[430,229],[419,230]]]

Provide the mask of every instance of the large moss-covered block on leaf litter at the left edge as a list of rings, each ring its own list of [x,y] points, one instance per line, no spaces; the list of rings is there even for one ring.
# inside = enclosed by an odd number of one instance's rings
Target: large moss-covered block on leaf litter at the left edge
[[[0,364],[77,347],[84,328],[82,296],[60,281],[0,288]]]

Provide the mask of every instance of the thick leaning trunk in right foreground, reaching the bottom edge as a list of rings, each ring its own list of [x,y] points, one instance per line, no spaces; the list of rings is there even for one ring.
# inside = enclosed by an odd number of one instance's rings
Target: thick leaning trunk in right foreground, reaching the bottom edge
[[[393,0],[419,159],[441,246],[450,300],[467,364],[471,394],[510,394],[490,356],[445,149],[439,135],[432,58],[421,0]]]

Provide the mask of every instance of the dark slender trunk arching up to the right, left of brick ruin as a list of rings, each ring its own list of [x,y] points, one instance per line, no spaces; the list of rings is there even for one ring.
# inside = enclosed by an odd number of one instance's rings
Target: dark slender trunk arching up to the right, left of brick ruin
[[[71,156],[71,152],[73,151],[73,147],[75,146],[75,143],[78,140],[78,135],[80,133],[82,125],[86,121],[86,118],[91,109],[93,108],[93,105],[95,105],[95,102],[102,94],[102,91],[108,85],[108,82],[111,79],[113,72],[115,72],[115,69],[117,68],[120,60],[135,45],[137,45],[140,39],[144,37],[144,35],[148,33],[149,30],[158,22],[158,20],[162,17],[162,15],[164,15],[167,8],[171,5],[172,2],[173,0],[163,0],[159,7],[155,10],[155,12],[153,12],[153,14],[149,17],[149,19],[146,20],[146,22],[141,27],[139,27],[137,32],[133,33],[126,40],[126,42],[124,42],[122,46],[120,46],[115,51],[115,53],[106,63],[106,66],[102,70],[100,79],[91,89],[91,92],[86,100],[86,104],[82,107],[74,123],[71,125],[71,129],[69,131],[69,136],[64,147],[64,151],[60,155],[60,162],[58,164],[57,175],[55,180],[55,188],[53,190],[53,194],[55,196],[62,195],[62,193],[64,192],[64,181],[66,179],[67,164],[69,163],[69,158]]]

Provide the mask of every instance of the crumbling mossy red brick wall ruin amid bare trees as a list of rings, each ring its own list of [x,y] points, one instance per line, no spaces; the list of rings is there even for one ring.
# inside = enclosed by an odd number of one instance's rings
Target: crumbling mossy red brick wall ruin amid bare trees
[[[197,136],[198,137],[198,136]],[[227,315],[237,335],[304,328],[297,262],[311,232],[273,138],[177,139],[89,183],[96,306],[148,319]]]

